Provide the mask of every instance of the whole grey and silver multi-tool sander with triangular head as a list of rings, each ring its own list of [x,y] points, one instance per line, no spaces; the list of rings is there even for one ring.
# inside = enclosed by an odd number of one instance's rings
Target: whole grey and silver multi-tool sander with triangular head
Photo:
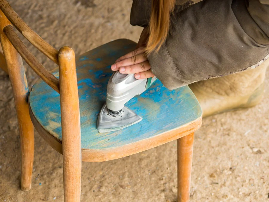
[[[124,105],[148,89],[156,79],[136,79],[134,74],[114,72],[107,84],[106,104],[97,119],[99,133],[121,130],[140,122],[142,118]]]

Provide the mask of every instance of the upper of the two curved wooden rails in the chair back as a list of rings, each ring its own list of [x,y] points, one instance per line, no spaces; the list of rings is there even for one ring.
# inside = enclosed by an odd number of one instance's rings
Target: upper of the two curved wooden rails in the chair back
[[[6,0],[0,0],[0,9],[17,30],[39,51],[58,64],[58,51],[34,32],[12,9]]]

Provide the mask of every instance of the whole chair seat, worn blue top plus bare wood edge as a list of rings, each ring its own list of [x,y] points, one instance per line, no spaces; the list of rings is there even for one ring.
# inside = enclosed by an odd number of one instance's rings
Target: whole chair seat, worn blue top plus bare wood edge
[[[125,157],[188,135],[201,126],[201,107],[189,87],[170,91],[156,81],[146,92],[126,103],[142,121],[122,130],[98,133],[97,117],[106,102],[106,85],[112,75],[110,66],[135,45],[120,39],[76,59],[83,161]],[[52,73],[59,77],[58,69]],[[62,153],[59,94],[44,81],[37,81],[29,95],[29,111],[37,132]]]

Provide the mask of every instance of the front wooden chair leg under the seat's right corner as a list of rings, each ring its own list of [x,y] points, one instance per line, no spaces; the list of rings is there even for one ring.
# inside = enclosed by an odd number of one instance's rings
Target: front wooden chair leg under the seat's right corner
[[[194,133],[178,139],[178,202],[189,201]]]

